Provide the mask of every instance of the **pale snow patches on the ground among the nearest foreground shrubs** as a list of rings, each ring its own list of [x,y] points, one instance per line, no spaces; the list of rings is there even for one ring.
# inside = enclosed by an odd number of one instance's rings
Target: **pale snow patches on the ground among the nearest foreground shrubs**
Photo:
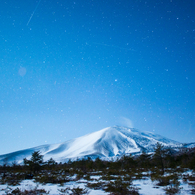
[[[191,174],[191,172],[186,172],[184,174]],[[91,179],[94,179],[93,181],[87,181],[85,179],[80,179],[77,181],[70,181],[64,184],[64,186],[61,186],[59,184],[39,184],[36,183],[34,180],[23,180],[20,185],[17,186],[7,186],[7,185],[0,185],[0,195],[5,195],[6,192],[11,192],[12,190],[19,188],[21,191],[24,190],[32,190],[32,189],[45,189],[49,194],[51,195],[58,195],[60,194],[60,189],[65,189],[69,187],[70,189],[80,187],[80,188],[86,188],[88,189],[89,195],[105,195],[109,194],[103,190],[94,190],[87,188],[88,182],[97,182],[102,181],[101,176],[92,176]],[[190,190],[192,189],[193,185],[189,185],[188,182],[184,182],[182,179],[180,181],[180,187],[181,191],[179,194],[187,195],[191,194]],[[192,183],[195,184],[193,181]],[[144,177],[141,180],[133,180],[133,186],[137,187],[139,189],[139,194],[141,195],[162,195],[165,194],[165,191],[163,190],[165,187],[157,186],[155,182],[152,182],[152,180],[149,177]]]

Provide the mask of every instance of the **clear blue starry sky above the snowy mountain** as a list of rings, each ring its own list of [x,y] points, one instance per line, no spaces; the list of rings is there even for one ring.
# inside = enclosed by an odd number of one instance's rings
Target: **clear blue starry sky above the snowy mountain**
[[[114,125],[195,141],[194,0],[2,0],[0,154]]]

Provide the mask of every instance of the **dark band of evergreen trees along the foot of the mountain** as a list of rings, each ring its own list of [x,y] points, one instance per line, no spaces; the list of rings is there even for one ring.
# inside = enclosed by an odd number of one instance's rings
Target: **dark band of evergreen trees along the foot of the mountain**
[[[191,149],[180,149],[175,151],[171,148],[166,148],[163,145],[157,143],[154,148],[154,153],[146,154],[142,153],[139,156],[124,155],[117,160],[106,161],[96,158],[92,160],[90,157],[71,161],[66,163],[57,163],[52,158],[46,162],[43,161],[43,156],[40,151],[32,153],[31,159],[23,160],[23,165],[12,165],[0,166],[1,171],[5,170],[24,170],[29,174],[36,174],[41,170],[47,169],[77,169],[82,170],[83,173],[89,171],[104,171],[105,169],[113,170],[132,170],[132,169],[151,169],[158,168],[162,174],[164,174],[167,168],[189,168],[195,170],[195,148]]]

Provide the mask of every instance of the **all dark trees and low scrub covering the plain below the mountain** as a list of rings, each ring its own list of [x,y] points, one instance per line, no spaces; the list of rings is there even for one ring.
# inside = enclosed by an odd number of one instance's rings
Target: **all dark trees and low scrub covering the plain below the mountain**
[[[33,179],[41,184],[59,184],[59,194],[88,194],[89,189],[104,190],[112,195],[139,194],[133,180],[151,178],[156,187],[163,186],[166,194],[180,192],[180,181],[191,186],[195,194],[195,176],[185,174],[186,170],[195,171],[195,148],[174,151],[157,144],[153,154],[123,156],[115,161],[99,158],[86,158],[67,163],[56,163],[53,159],[46,162],[39,151],[30,160],[24,159],[23,165],[13,163],[0,166],[0,184],[16,186],[24,179]],[[69,181],[85,179],[86,188],[67,188]],[[179,181],[180,180],[180,181]],[[44,189],[21,191],[19,188],[7,194],[48,194]]]

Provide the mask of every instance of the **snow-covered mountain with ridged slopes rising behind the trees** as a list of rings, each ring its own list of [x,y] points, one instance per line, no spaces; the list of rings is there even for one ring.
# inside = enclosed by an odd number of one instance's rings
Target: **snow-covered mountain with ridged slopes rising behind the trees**
[[[157,142],[173,148],[183,146],[179,142],[150,132],[140,132],[134,128],[115,126],[60,144],[42,145],[0,155],[0,164],[22,163],[23,159],[29,159],[34,151],[40,151],[44,155],[45,161],[50,158],[57,162],[85,157],[109,159],[124,154],[138,154],[142,151],[152,152]]]

